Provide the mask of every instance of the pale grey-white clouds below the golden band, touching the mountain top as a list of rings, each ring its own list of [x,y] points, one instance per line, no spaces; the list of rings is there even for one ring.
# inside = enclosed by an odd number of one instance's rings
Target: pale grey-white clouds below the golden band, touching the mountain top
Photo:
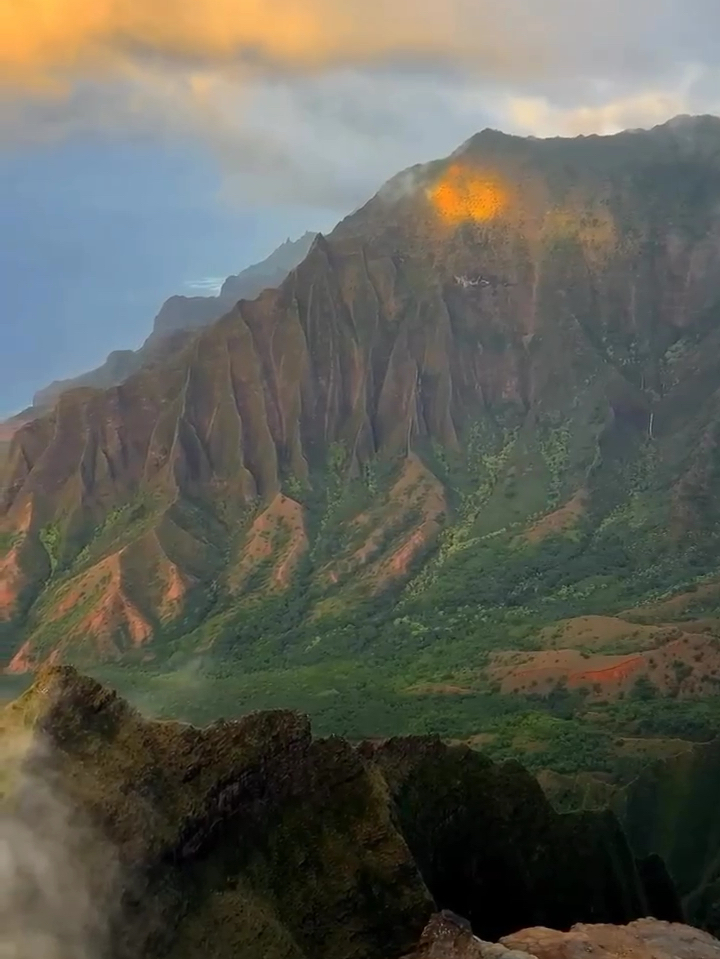
[[[367,39],[361,8],[337,5]],[[391,24],[400,48],[403,9]],[[354,40],[343,47],[340,34],[338,56],[312,69],[173,58],[160,45],[114,63],[112,81],[75,83],[64,99],[0,99],[0,129],[6,142],[88,130],[201,142],[222,165],[225,201],[344,213],[398,170],[450,153],[485,126],[612,133],[720,104],[717,0],[506,0],[494,16],[488,2],[422,0],[417,16],[442,22],[442,43],[413,47],[416,23],[404,63],[397,44],[370,56]],[[494,59],[480,55],[483,31],[498,46]]]

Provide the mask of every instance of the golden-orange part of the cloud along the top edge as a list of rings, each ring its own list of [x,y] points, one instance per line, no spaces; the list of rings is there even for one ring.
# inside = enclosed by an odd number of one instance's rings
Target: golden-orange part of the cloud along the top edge
[[[444,57],[494,75],[537,66],[534,44],[511,38],[509,17],[485,2],[0,0],[4,87],[113,74],[143,55],[286,69]]]

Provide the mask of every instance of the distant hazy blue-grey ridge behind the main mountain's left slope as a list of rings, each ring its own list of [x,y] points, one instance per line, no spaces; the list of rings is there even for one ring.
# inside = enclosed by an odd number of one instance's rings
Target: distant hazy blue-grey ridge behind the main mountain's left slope
[[[139,350],[115,350],[102,366],[68,380],[56,380],[33,398],[34,415],[51,407],[61,393],[81,386],[108,389],[122,383],[143,366],[177,349],[189,337],[182,334],[208,326],[232,309],[237,300],[253,299],[267,287],[278,286],[310,248],[314,233],[286,240],[270,256],[229,276],[217,296],[172,296],[155,317],[153,331]],[[13,421],[3,424],[6,431]]]

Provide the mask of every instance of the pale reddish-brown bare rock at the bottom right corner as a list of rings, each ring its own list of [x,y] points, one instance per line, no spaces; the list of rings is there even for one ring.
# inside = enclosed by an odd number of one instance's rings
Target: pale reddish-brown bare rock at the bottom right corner
[[[405,959],[720,959],[720,941],[680,923],[640,919],[626,926],[539,926],[483,942],[452,914],[433,916]]]

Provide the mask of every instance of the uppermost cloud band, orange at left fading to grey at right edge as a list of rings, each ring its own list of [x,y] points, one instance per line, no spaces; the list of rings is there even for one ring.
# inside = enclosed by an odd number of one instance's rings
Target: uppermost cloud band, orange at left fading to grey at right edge
[[[711,0],[2,0],[0,84],[47,92],[148,63],[255,76],[381,62],[503,80],[632,74],[662,69],[669,47],[706,43],[719,20]]]

